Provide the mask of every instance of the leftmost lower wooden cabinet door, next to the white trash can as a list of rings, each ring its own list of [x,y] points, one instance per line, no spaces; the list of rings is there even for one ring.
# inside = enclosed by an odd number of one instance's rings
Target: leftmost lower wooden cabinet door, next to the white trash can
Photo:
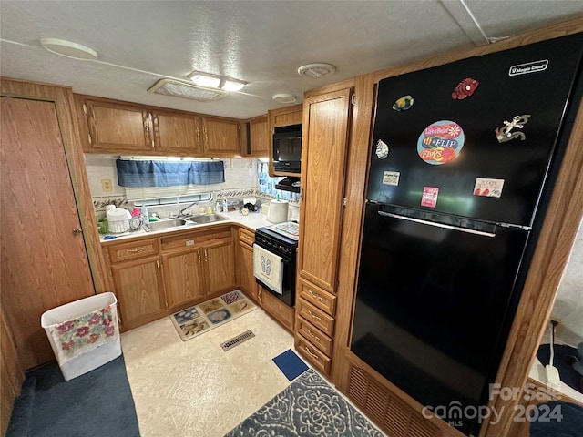
[[[124,330],[166,314],[159,258],[137,259],[111,266]]]

